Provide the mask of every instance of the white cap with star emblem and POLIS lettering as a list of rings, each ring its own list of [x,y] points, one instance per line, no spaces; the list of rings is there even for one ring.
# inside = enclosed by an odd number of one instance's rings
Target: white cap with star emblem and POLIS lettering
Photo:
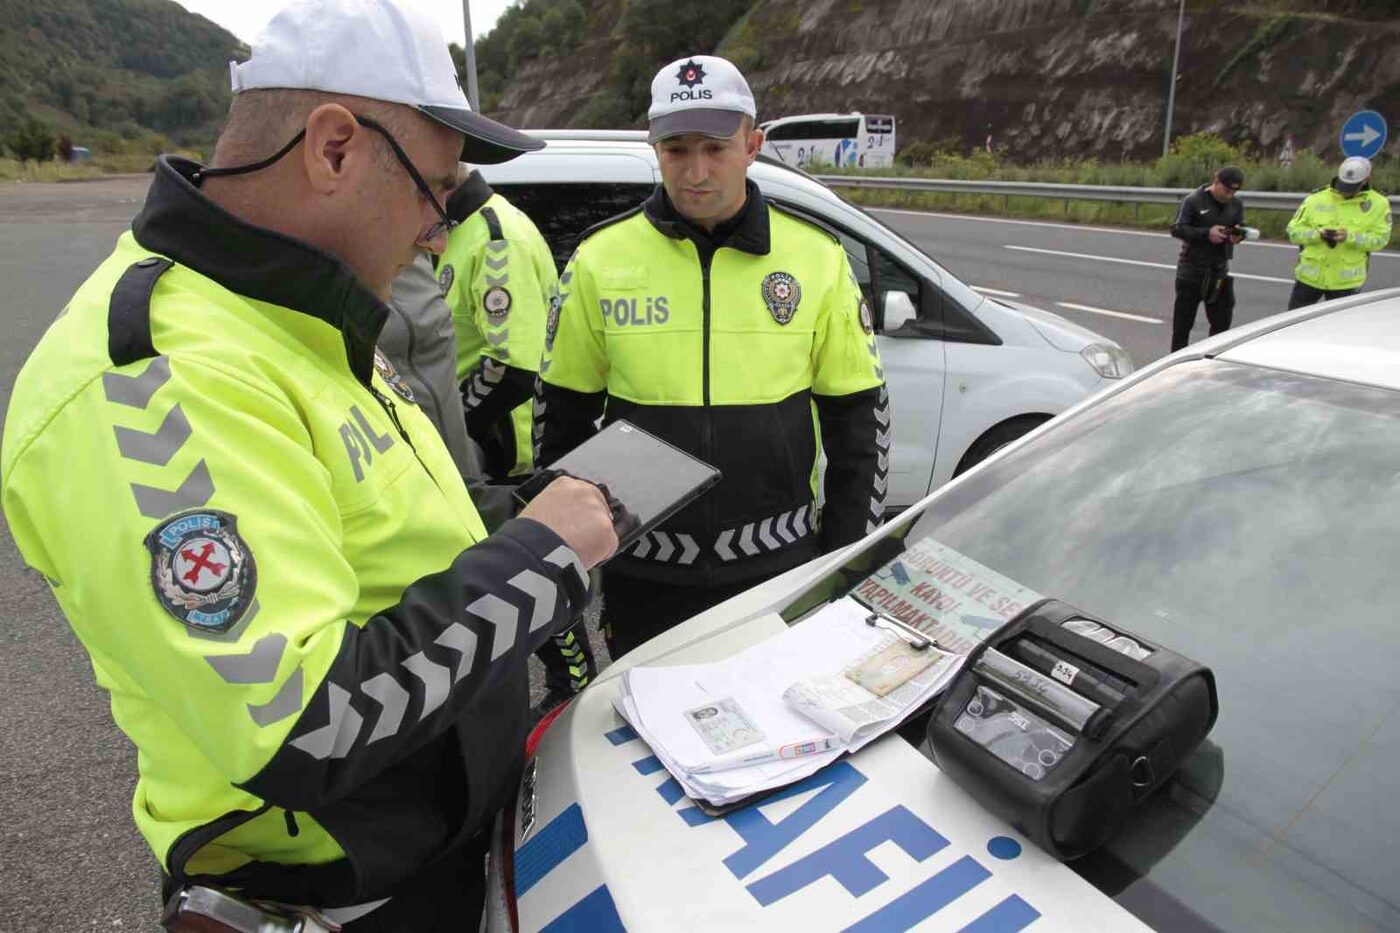
[[[696,133],[728,139],[757,116],[753,91],[732,62],[713,55],[676,59],[651,78],[648,143]]]

